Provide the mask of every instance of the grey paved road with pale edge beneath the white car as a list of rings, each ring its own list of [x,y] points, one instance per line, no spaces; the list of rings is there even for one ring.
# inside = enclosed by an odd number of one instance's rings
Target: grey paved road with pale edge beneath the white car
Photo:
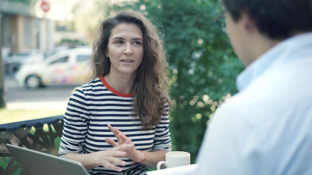
[[[6,108],[8,109],[65,109],[75,87],[57,86],[26,89],[15,83],[13,76],[5,76]]]

